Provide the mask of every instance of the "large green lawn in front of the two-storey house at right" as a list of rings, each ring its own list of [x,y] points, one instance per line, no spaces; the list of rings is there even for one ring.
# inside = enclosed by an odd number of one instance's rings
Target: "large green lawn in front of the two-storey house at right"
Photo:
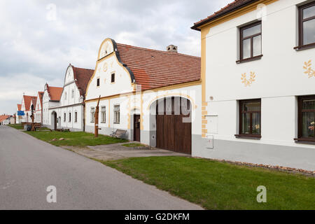
[[[315,209],[315,178],[183,157],[102,162],[205,209]],[[267,188],[258,203],[257,187]]]

